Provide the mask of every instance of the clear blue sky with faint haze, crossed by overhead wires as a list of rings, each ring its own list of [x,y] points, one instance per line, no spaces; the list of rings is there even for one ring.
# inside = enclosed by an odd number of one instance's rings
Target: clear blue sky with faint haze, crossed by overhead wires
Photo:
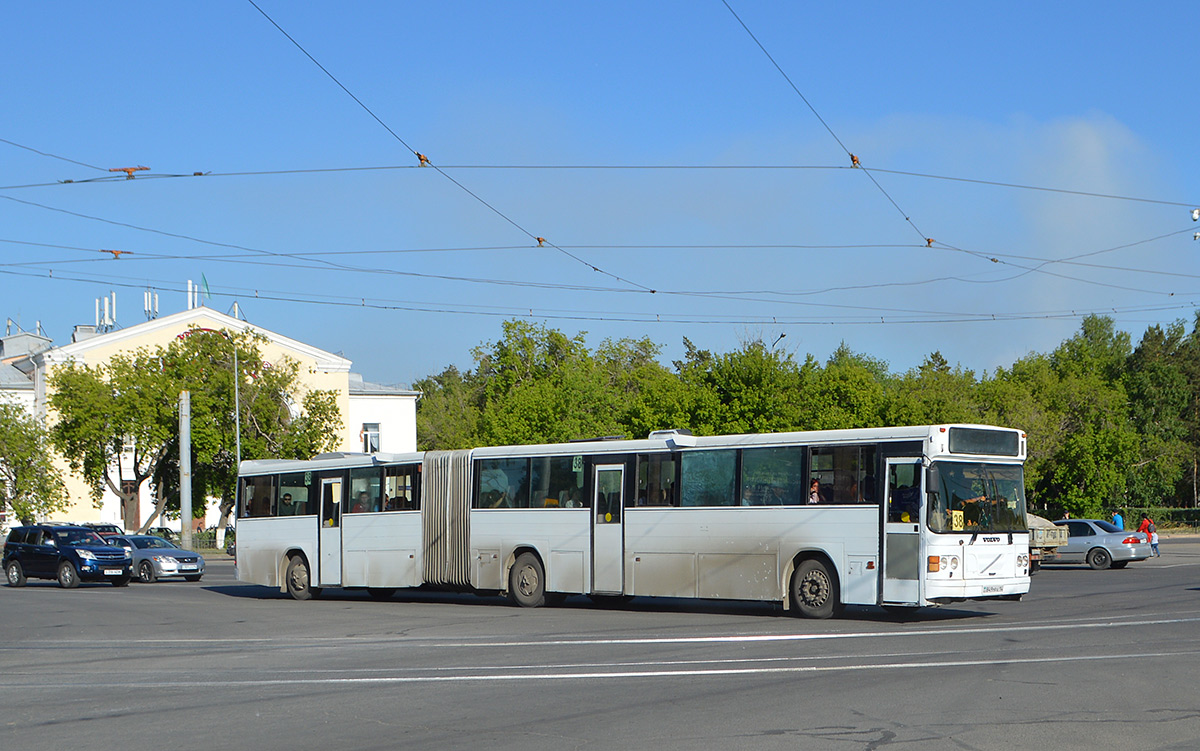
[[[203,276],[407,385],[515,317],[982,372],[1200,301],[1194,2],[258,5],[374,116],[248,1],[0,10],[6,317]]]

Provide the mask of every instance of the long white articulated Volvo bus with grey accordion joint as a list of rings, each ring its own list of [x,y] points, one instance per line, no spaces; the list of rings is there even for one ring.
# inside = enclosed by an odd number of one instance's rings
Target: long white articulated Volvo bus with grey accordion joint
[[[846,605],[1019,599],[1025,434],[978,425],[242,462],[238,578]]]

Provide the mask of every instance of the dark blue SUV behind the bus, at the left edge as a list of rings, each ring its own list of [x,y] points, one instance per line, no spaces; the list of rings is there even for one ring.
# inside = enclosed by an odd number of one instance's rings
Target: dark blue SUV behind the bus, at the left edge
[[[90,529],[32,524],[14,527],[4,543],[4,572],[10,587],[25,578],[58,579],[70,589],[79,582],[112,582],[125,587],[133,573],[133,559]]]

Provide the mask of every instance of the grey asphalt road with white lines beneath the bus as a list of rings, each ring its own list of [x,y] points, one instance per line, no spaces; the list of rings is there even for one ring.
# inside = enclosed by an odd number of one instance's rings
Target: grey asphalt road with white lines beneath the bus
[[[0,588],[0,749],[1200,749],[1200,540],[1021,602]]]

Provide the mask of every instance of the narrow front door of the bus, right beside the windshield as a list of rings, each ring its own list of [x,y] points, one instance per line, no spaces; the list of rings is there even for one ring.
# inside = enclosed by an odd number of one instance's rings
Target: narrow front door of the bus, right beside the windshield
[[[924,516],[920,459],[888,459],[888,495],[883,504],[883,583],[886,605],[920,602],[920,522]]]

